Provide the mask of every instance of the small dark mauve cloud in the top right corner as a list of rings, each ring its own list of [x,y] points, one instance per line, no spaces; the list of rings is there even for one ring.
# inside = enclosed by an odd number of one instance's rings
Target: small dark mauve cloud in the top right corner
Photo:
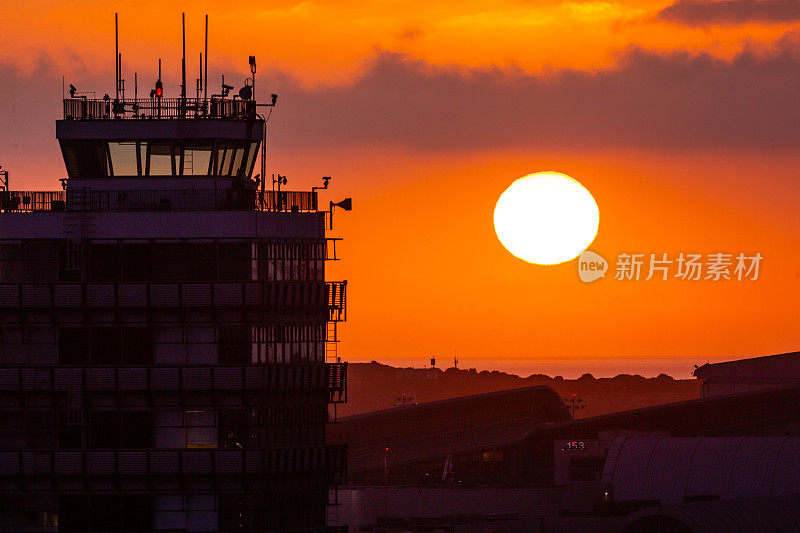
[[[689,26],[785,23],[800,19],[800,0],[678,0],[658,19]]]

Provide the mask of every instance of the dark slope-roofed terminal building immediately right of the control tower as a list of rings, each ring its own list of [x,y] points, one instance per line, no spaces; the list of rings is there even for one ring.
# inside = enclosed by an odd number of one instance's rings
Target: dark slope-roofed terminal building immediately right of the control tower
[[[539,386],[349,416],[329,436],[347,443],[355,483],[385,475],[391,484],[524,483],[532,467],[520,443],[535,427],[569,419],[561,398]]]

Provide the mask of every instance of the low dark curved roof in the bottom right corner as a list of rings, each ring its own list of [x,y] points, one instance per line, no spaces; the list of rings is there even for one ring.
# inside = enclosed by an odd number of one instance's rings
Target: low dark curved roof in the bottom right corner
[[[663,520],[666,517],[669,520]],[[800,496],[745,498],[648,507],[632,514],[625,533],[652,531],[654,524],[670,523],[669,531],[800,531]],[[683,528],[675,528],[680,524]]]

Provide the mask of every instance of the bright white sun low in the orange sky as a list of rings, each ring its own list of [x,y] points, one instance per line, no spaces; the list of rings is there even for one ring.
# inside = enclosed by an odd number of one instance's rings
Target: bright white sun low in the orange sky
[[[577,257],[597,235],[600,210],[586,187],[558,172],[512,183],[497,200],[494,230],[509,252],[554,265]]]

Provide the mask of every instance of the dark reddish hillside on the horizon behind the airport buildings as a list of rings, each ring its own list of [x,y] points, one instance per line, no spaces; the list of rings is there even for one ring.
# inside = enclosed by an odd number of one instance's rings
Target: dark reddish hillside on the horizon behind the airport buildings
[[[582,398],[586,408],[577,413],[581,418],[700,397],[697,380],[666,374],[656,378],[629,374],[598,379],[591,374],[578,379],[543,374],[523,378],[474,369],[395,368],[373,361],[350,363],[347,381],[348,402],[338,407],[340,417],[390,408],[402,394],[411,398],[409,403],[423,403],[532,385],[547,385],[563,398],[573,393]]]

